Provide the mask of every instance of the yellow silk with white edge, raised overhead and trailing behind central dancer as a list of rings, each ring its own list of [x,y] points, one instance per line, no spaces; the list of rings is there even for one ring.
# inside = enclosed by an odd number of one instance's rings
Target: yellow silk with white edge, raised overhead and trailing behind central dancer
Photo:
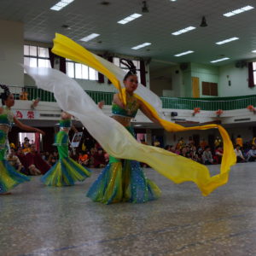
[[[121,100],[125,103],[125,89],[122,81],[125,77],[125,72],[115,66],[113,63],[104,60],[98,55],[92,54],[87,49],[84,49],[81,45],[73,42],[72,39],[67,38],[61,34],[56,34],[54,39],[53,52],[56,55],[61,55],[73,61],[84,63],[87,66],[95,68],[98,72],[103,73],[108,77],[113,85],[119,90]],[[165,128],[166,131],[191,131],[191,130],[207,130],[212,128],[218,128],[218,131],[223,138],[224,142],[224,155],[220,166],[219,182],[226,183],[230,172],[230,166],[236,164],[236,154],[234,147],[230,141],[230,136],[221,125],[201,125],[194,127],[183,127],[182,125],[174,124],[167,121],[162,116],[162,103],[160,98],[156,96],[151,90],[148,90],[143,84],[139,84],[136,90],[138,99],[140,99],[144,105],[147,106],[148,110],[154,115],[155,119],[158,119],[160,124]],[[218,177],[216,177],[218,179]],[[217,182],[218,183],[218,182]]]

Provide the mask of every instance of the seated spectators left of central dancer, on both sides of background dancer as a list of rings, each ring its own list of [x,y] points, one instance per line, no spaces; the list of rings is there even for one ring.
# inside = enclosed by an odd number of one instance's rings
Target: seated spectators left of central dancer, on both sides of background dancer
[[[7,160],[17,171],[26,175],[44,174],[59,160],[57,150],[38,152],[35,144],[33,142],[29,143],[27,137],[25,137],[22,144],[19,143],[15,146],[14,143],[11,143],[10,145]],[[70,148],[69,156],[84,167],[103,168],[108,164],[108,154],[89,137],[84,139],[81,150]]]

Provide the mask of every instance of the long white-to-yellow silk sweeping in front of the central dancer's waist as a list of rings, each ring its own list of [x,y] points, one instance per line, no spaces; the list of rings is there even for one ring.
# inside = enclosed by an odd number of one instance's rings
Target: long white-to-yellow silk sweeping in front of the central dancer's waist
[[[210,194],[228,181],[229,170],[210,177],[207,166],[162,148],[137,143],[123,125],[105,115],[80,85],[64,73],[44,67],[25,68],[38,87],[53,92],[60,108],[77,117],[113,157],[147,163],[175,183],[194,182],[203,195]]]

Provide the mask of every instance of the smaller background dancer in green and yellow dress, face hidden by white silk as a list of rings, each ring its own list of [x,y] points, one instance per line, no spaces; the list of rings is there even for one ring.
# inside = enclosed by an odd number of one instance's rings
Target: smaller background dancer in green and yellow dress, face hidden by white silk
[[[59,160],[42,177],[41,180],[45,185],[72,186],[76,181],[83,181],[86,177],[90,177],[89,170],[68,157],[68,132],[70,129],[76,131],[71,124],[71,117],[67,112],[61,113],[60,131],[55,137]]]

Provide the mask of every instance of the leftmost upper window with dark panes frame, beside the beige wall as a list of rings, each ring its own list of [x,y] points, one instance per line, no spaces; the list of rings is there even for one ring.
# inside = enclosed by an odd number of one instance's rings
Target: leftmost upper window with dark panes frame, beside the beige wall
[[[50,67],[48,48],[24,45],[24,65],[29,67]]]

